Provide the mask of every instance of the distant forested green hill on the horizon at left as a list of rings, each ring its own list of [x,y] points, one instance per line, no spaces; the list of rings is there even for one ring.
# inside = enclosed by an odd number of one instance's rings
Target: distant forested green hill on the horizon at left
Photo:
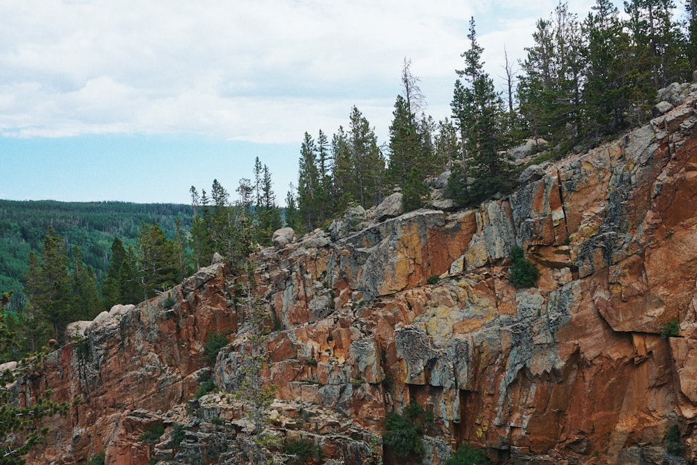
[[[149,224],[155,220],[164,233],[173,238],[176,218],[188,230],[193,218],[192,206],[0,200],[0,291],[13,289],[13,304],[22,304],[26,259],[31,250],[40,252],[49,226],[66,241],[69,253],[72,254],[75,245],[82,250],[85,263],[95,270],[100,281],[109,263],[114,236],[125,244],[135,243],[141,222]]]

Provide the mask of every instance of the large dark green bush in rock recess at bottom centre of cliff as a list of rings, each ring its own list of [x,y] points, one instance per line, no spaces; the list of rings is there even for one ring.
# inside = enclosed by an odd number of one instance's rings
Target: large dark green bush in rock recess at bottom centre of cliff
[[[383,444],[397,457],[413,457],[420,461],[424,455],[421,437],[433,420],[433,413],[424,411],[423,407],[412,399],[404,409],[404,415],[392,412],[385,417]]]

